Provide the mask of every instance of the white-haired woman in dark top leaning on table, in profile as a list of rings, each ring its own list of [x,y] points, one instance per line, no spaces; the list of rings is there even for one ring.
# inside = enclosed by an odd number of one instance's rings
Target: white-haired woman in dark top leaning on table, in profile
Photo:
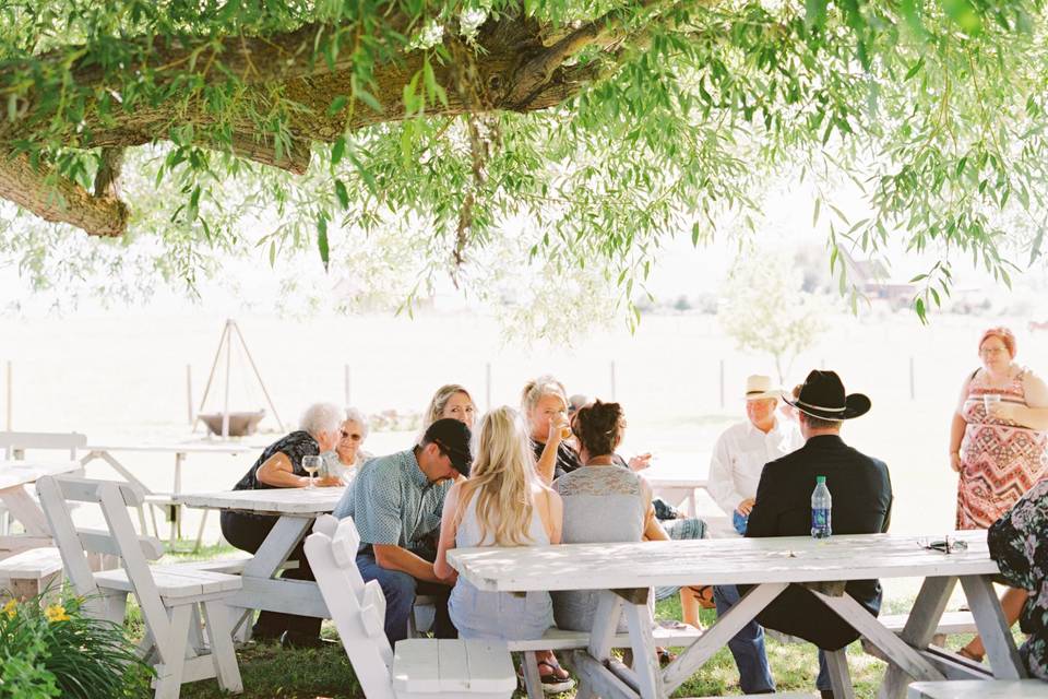
[[[309,475],[302,467],[305,457],[317,457],[326,451],[338,451],[343,434],[352,420],[346,413],[331,403],[317,403],[306,408],[299,429],[286,435],[262,451],[262,455],[234,486],[234,490],[262,490],[267,488],[305,488],[309,485]],[[353,447],[355,458],[358,443]],[[345,451],[345,448],[343,448]],[[345,451],[347,457],[348,451]],[[340,459],[341,460],[341,459]],[[340,486],[338,476],[324,476],[315,481],[319,486]],[[277,518],[251,512],[223,510],[222,535],[241,550],[255,553],[265,541]],[[306,560],[302,545],[299,544],[289,561],[298,561],[298,567],[286,570],[284,577],[291,580],[312,580],[313,573]],[[254,625],[254,637],[259,640],[281,639],[284,645],[320,645],[320,619],[294,614],[262,612]]]

